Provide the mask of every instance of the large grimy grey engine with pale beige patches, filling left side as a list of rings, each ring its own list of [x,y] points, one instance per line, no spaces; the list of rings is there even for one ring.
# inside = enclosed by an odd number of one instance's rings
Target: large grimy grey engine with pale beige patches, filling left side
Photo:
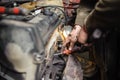
[[[20,7],[28,9],[29,4]],[[0,20],[0,76],[7,80],[37,80],[47,40],[56,27],[66,24],[62,0],[35,5],[29,15],[3,15]]]

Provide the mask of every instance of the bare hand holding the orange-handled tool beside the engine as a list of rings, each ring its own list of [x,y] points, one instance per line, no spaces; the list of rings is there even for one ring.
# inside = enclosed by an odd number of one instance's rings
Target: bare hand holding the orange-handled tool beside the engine
[[[85,31],[85,28],[81,27],[80,25],[75,25],[71,33],[66,38],[63,46],[68,47],[67,49],[65,48],[65,51],[70,53],[70,51],[74,47],[74,44],[77,41],[80,42],[81,44],[85,44],[86,40],[87,40],[87,32]]]

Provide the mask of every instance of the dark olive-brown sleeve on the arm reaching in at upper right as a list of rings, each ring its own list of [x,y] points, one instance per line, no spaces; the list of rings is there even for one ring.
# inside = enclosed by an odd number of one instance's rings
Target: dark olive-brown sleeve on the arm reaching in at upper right
[[[88,33],[96,28],[108,30],[120,27],[120,0],[99,0],[85,19]]]

